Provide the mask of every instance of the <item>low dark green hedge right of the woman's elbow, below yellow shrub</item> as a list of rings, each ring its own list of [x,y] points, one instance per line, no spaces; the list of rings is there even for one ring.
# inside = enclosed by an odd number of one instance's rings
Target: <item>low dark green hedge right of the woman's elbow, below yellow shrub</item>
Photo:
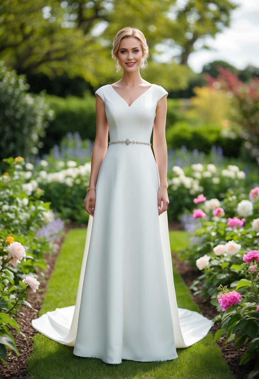
[[[188,150],[197,149],[208,154],[212,146],[221,146],[225,157],[238,157],[243,140],[240,137],[228,138],[222,135],[220,126],[194,126],[186,121],[177,122],[166,129],[168,149],[186,146]]]

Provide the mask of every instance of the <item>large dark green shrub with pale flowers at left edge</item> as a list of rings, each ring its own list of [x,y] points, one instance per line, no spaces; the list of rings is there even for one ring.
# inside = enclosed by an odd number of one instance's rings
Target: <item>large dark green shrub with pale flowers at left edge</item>
[[[8,71],[0,62],[0,160],[38,153],[51,111],[44,94],[31,96],[24,75]]]

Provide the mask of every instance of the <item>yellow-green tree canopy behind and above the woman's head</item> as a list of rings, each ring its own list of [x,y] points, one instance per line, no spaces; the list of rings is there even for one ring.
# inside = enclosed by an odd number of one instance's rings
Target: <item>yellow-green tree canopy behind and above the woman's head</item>
[[[153,75],[152,81],[158,75],[177,90],[192,75],[187,63],[196,41],[229,26],[234,8],[230,0],[186,0],[182,8],[176,0],[2,0],[0,59],[18,74],[65,73],[97,86],[118,77],[112,41],[130,25],[144,32],[150,46],[150,70],[144,75]],[[177,47],[182,67],[170,58],[157,65],[161,44]]]

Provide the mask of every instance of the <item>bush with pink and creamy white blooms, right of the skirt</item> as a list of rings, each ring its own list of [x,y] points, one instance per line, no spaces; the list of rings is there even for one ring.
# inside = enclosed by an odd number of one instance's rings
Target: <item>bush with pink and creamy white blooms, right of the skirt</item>
[[[257,220],[254,216],[258,215],[259,201],[252,204],[244,197],[242,193],[236,196],[229,192],[221,201],[209,199],[200,202],[201,208],[193,212],[193,220],[197,224],[192,243],[180,254],[203,271],[191,289],[195,294],[209,296],[218,309],[215,288],[220,284],[235,283],[242,277],[243,254],[259,243],[257,221],[254,221]],[[220,211],[216,211],[219,208]],[[246,218],[240,218],[240,212],[246,214]]]

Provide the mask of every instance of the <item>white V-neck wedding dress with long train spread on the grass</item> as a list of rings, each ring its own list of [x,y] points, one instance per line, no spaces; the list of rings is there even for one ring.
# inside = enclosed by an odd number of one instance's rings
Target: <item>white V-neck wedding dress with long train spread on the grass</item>
[[[156,104],[167,92],[152,84],[130,106],[111,85],[105,103],[110,140],[150,142]],[[167,213],[158,216],[159,176],[147,144],[110,144],[96,183],[76,305],[47,312],[33,327],[81,357],[177,358],[201,340],[211,320],[177,307]]]

